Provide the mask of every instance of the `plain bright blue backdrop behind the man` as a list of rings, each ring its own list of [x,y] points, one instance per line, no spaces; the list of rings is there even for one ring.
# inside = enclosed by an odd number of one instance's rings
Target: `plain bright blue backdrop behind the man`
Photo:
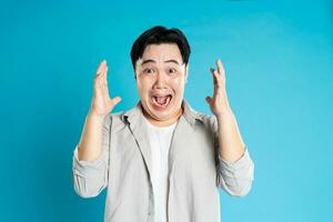
[[[81,199],[72,151],[107,59],[114,111],[138,101],[130,49],[155,24],[192,47],[185,98],[210,113],[221,58],[255,162],[244,199],[221,191],[223,221],[329,221],[333,200],[332,1],[3,1],[0,4],[0,221],[102,221],[105,192]]]

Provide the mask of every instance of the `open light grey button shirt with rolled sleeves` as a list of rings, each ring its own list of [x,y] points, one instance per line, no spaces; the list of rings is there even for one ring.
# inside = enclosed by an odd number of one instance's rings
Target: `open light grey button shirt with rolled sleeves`
[[[194,111],[183,100],[183,114],[169,151],[169,222],[218,222],[218,189],[231,195],[249,193],[254,164],[249,150],[235,162],[219,155],[214,115]],[[133,109],[104,118],[102,154],[79,161],[73,153],[73,185],[82,198],[97,196],[107,188],[105,222],[152,222],[154,195],[152,159],[140,102]]]

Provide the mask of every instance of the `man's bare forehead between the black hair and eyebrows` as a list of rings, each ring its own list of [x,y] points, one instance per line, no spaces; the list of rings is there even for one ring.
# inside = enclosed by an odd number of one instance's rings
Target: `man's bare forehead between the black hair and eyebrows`
[[[176,60],[179,63],[182,63],[182,56],[175,43],[149,44],[144,49],[141,59],[141,62],[144,60],[154,60],[157,62]]]

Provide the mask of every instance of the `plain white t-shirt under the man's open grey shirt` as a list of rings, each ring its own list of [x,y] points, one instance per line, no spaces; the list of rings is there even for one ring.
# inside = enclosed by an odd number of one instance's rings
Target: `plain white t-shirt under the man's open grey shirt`
[[[168,127],[155,127],[145,118],[152,157],[152,186],[154,193],[154,221],[167,222],[169,150],[176,122]]]

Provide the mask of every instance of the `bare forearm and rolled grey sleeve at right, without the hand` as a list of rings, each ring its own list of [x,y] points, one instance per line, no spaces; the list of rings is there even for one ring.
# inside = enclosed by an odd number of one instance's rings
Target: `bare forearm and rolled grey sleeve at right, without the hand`
[[[229,120],[228,117],[213,118],[214,144],[218,152],[216,185],[231,195],[244,196],[252,186],[254,164],[241,139],[235,118],[232,113]],[[228,160],[221,153],[232,158]]]

